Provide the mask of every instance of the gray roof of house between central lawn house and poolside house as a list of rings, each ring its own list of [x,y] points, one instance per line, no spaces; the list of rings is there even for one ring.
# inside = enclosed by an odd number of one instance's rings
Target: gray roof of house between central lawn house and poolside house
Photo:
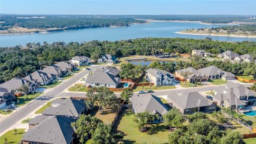
[[[195,108],[195,107],[204,107],[211,106],[212,102],[207,100],[203,95],[198,92],[189,92],[189,93],[170,93],[167,95],[168,102],[176,103],[180,108]]]

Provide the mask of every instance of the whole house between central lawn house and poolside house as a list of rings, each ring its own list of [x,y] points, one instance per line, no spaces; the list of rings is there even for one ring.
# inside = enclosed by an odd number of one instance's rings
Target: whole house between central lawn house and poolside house
[[[172,92],[167,95],[167,101],[172,107],[179,109],[182,114],[193,114],[198,111],[211,113],[216,110],[214,103],[198,92],[178,94]]]

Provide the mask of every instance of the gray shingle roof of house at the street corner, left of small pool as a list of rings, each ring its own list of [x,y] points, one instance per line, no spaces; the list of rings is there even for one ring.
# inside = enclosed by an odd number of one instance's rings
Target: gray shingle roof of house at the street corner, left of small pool
[[[117,84],[119,77],[110,74],[105,69],[98,69],[93,74],[87,76],[86,83],[88,84]]]

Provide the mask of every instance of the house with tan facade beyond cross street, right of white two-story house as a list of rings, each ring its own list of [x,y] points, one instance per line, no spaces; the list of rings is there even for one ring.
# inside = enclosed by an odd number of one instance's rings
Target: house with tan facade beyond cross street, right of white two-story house
[[[175,71],[175,76],[179,77],[179,79],[183,81],[183,80],[185,80],[185,77],[182,76],[182,73],[185,73],[186,71],[191,73],[187,77],[188,82],[204,82],[204,81],[207,81],[207,77],[204,74],[199,73],[199,71],[197,71],[193,67],[176,70]]]

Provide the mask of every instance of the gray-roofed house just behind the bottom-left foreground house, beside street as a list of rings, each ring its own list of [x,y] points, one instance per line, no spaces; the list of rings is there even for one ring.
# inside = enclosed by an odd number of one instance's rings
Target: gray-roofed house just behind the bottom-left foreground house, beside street
[[[78,118],[79,115],[84,114],[87,111],[84,100],[76,99],[56,99],[53,100],[52,106],[43,111],[43,115],[52,116],[60,115]]]

